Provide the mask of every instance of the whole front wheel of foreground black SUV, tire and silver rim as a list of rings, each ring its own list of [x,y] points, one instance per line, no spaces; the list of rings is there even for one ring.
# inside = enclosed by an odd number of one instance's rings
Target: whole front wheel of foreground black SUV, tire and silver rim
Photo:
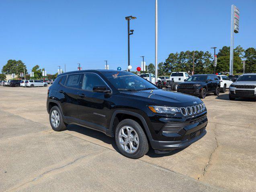
[[[144,156],[149,145],[141,126],[134,120],[121,121],[115,131],[115,142],[119,152],[128,158],[137,159]]]

